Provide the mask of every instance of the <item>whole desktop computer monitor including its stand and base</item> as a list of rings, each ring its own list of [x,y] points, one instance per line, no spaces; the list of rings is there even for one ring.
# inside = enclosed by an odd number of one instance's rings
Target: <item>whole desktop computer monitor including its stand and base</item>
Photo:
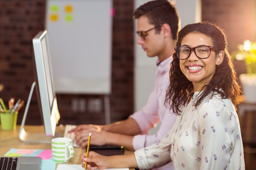
[[[24,142],[51,142],[51,139],[56,135],[55,129],[60,114],[58,112],[57,100],[54,91],[52,65],[49,51],[49,42],[47,30],[40,31],[32,40],[34,55],[32,57],[34,66],[35,81],[31,86],[25,113],[22,118],[19,138]],[[31,96],[36,87],[36,95],[38,99],[38,106],[45,128],[45,133],[28,133],[25,131],[25,121],[27,112],[31,101]]]

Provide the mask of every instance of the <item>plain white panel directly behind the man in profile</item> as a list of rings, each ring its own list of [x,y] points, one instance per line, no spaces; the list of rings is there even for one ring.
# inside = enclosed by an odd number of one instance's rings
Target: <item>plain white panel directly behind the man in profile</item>
[[[135,0],[134,9],[150,0]],[[175,3],[181,18],[181,27],[186,24],[201,21],[201,0],[176,0]],[[137,20],[134,22],[134,32],[137,31]],[[149,58],[136,44],[137,35],[134,34],[135,44],[135,111],[146,104],[150,92],[153,90],[156,71],[156,57]]]

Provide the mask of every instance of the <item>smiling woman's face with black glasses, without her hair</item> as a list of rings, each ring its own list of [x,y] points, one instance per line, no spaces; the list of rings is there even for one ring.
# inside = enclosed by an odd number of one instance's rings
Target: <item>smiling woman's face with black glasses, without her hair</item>
[[[224,51],[217,54],[213,49],[211,38],[203,33],[187,34],[182,40],[182,46],[176,48],[180,69],[193,83],[194,91],[205,88],[215,73],[216,65],[222,63]]]

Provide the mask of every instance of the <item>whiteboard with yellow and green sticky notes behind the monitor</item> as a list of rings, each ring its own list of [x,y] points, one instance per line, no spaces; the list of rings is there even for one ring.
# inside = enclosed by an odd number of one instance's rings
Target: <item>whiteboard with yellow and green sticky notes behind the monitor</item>
[[[112,0],[47,0],[56,93],[111,92]]]

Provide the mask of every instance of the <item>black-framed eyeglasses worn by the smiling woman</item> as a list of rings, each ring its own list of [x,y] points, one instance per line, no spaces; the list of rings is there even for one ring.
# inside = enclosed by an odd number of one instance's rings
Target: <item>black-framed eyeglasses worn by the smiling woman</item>
[[[187,46],[178,46],[175,47],[175,51],[177,53],[177,57],[180,60],[185,60],[191,55],[191,51],[195,52],[195,55],[200,59],[205,59],[210,57],[211,51],[214,51],[213,46],[195,46],[195,47],[187,47]]]

